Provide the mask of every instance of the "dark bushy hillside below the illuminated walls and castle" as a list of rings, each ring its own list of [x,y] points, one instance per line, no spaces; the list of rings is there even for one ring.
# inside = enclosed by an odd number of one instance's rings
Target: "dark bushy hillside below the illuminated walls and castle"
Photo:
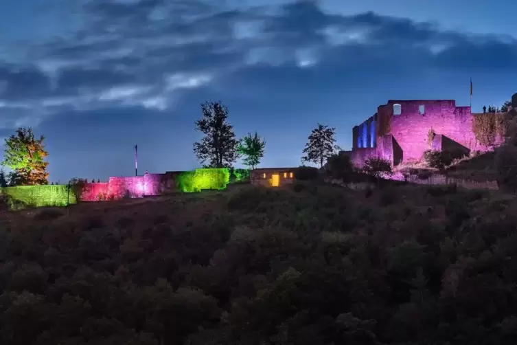
[[[510,344],[517,199],[250,186],[2,214],[0,344]]]

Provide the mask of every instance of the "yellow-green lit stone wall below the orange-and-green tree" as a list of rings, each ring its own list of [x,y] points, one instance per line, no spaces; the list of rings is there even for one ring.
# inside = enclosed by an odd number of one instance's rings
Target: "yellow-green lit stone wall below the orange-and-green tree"
[[[0,194],[28,205],[66,206],[68,200],[67,185],[17,186],[0,188]],[[77,203],[73,192],[70,192],[69,203]]]

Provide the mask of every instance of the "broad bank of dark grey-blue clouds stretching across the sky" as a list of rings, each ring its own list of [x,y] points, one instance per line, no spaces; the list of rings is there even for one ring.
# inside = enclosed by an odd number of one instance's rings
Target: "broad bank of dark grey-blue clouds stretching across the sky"
[[[380,77],[386,83],[394,74],[404,80],[517,67],[512,37],[444,31],[374,12],[343,16],[317,1],[235,8],[210,0],[83,0],[79,15],[72,35],[0,63],[0,107],[8,114],[0,126],[36,123],[65,109],[170,111],[180,96],[211,85],[264,100],[280,100],[278,89],[317,98],[346,85],[383,84]]]

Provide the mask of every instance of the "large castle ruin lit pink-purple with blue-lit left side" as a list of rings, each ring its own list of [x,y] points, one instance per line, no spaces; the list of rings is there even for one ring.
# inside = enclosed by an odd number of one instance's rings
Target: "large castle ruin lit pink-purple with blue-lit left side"
[[[361,166],[375,156],[398,165],[421,159],[428,149],[490,150],[476,141],[473,116],[470,107],[456,107],[455,100],[389,100],[352,129],[352,162]],[[385,123],[389,123],[387,133],[382,133],[380,126]],[[436,133],[432,142],[430,130]]]

